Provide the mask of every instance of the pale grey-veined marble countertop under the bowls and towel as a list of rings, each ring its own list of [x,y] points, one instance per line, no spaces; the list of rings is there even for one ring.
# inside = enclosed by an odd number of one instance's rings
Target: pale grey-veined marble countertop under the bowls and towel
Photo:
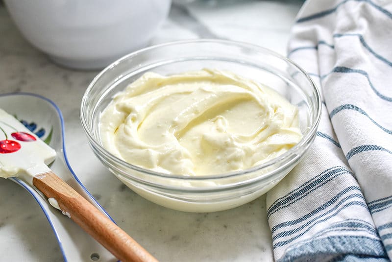
[[[285,54],[301,4],[299,0],[199,0],[174,5],[151,44],[222,38]],[[36,93],[59,106],[73,170],[120,227],[160,261],[272,261],[264,196],[223,212],[178,212],[128,190],[100,164],[79,121],[81,97],[97,73],[53,64],[23,39],[0,4],[0,93]],[[0,261],[63,261],[39,206],[24,189],[4,179],[0,180]]]

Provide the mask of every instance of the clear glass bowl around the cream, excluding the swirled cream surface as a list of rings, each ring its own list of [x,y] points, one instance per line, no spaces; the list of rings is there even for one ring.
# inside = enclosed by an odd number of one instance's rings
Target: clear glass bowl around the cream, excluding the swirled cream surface
[[[99,117],[113,95],[147,71],[166,75],[203,68],[232,71],[285,96],[298,106],[302,140],[263,165],[201,177],[150,171],[126,163],[102,147]],[[238,42],[193,40],[145,48],[117,60],[91,82],[82,98],[80,115],[94,153],[130,189],[175,210],[214,212],[266,193],[298,163],[316,136],[321,98],[306,72],[277,53]]]

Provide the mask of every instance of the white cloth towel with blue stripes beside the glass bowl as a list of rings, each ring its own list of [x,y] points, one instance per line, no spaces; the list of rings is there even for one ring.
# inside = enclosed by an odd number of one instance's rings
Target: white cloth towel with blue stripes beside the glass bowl
[[[277,261],[392,259],[392,1],[307,0],[289,58],[323,94],[315,143],[267,194]]]

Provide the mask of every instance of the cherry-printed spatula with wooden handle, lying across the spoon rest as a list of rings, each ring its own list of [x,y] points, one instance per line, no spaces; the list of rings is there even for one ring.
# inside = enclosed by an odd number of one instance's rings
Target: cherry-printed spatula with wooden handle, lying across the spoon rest
[[[0,109],[0,177],[17,176],[36,187],[52,206],[122,262],[156,262],[140,244],[50,170],[48,165],[55,157],[55,150]]]

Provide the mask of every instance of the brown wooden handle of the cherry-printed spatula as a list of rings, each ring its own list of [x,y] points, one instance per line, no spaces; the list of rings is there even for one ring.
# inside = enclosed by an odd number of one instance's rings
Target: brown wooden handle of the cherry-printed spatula
[[[46,197],[56,199],[63,213],[122,262],[157,262],[140,244],[53,172],[36,175],[33,184]]]

